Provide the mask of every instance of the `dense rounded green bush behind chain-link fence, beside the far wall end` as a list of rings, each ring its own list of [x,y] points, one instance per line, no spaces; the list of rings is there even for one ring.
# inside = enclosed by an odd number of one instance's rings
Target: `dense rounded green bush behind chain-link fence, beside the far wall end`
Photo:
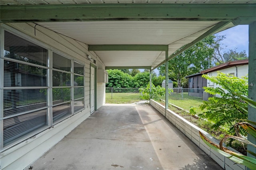
[[[108,70],[108,83],[106,83],[106,87],[130,88],[133,85],[134,81],[131,75],[118,69]]]

